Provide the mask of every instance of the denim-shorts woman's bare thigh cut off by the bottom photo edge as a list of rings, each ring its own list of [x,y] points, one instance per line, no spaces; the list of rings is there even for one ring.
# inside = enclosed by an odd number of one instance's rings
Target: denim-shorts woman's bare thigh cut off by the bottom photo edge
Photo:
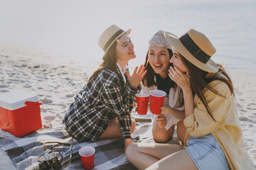
[[[154,169],[179,169],[179,170],[193,170],[197,169],[196,164],[193,162],[191,157],[189,156],[186,149],[182,149],[174,154],[170,154],[169,156],[161,159],[159,162],[149,166],[146,170],[154,170]]]

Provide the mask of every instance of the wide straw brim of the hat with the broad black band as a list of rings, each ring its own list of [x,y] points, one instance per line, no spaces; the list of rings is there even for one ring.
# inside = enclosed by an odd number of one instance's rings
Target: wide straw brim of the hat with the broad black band
[[[219,67],[215,62],[213,62],[213,60],[209,60],[208,62],[206,62],[206,64],[204,64],[203,62],[200,62],[199,60],[196,59],[196,57],[194,57],[193,55],[191,55],[190,52],[188,52],[186,47],[184,47],[184,45],[181,43],[181,40],[179,40],[178,37],[174,36],[172,33],[164,32],[164,37],[166,38],[166,40],[168,40],[171,43],[171,45],[179,53],[181,53],[183,57],[186,58],[186,60],[188,60],[188,62],[191,62],[192,64],[194,64],[199,69],[202,69],[203,71],[212,72],[212,73],[218,72]]]

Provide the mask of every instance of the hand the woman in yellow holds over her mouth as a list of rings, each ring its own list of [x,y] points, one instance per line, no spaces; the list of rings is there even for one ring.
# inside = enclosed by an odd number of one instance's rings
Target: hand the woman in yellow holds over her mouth
[[[191,90],[190,77],[188,72],[184,74],[177,67],[170,67],[169,77],[171,80],[176,82],[176,84],[178,84],[178,86],[180,86],[183,91]]]

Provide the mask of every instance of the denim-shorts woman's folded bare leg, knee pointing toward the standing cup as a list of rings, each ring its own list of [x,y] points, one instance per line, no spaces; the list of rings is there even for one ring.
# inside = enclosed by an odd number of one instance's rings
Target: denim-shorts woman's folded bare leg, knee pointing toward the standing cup
[[[132,143],[127,147],[125,155],[137,169],[146,169],[169,154],[183,149],[181,145]]]

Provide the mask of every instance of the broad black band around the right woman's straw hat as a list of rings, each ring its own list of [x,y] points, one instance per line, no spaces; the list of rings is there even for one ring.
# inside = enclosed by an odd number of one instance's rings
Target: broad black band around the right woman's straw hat
[[[201,50],[201,48],[198,47],[198,45],[196,45],[195,42],[193,42],[193,40],[188,35],[188,33],[181,36],[179,40],[181,40],[181,43],[184,45],[184,47],[186,47],[188,52],[190,52],[191,55],[193,55],[193,57],[196,57],[196,59],[199,60],[200,62],[203,62],[204,64],[206,64],[210,60],[211,56],[207,55],[206,52],[203,52],[203,50]]]

